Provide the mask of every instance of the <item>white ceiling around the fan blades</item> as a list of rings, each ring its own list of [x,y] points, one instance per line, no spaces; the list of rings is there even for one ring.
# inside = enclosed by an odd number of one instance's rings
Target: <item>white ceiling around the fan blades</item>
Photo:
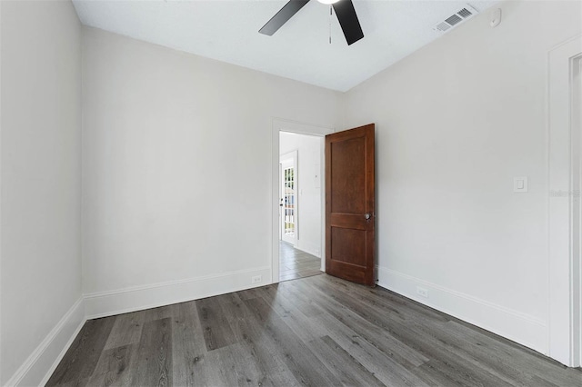
[[[310,1],[275,35],[258,30],[286,0],[73,0],[84,25],[269,74],[347,91],[442,35],[467,1],[355,0],[364,39],[348,46],[329,7]],[[469,1],[482,12],[497,1]],[[470,23],[471,21],[467,21]]]

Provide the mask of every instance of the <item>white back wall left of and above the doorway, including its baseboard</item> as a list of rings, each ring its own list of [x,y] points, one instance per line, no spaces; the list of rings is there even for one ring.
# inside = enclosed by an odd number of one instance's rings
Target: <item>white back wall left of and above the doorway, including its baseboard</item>
[[[341,94],[90,28],[83,58],[89,315],[268,283],[272,119]]]

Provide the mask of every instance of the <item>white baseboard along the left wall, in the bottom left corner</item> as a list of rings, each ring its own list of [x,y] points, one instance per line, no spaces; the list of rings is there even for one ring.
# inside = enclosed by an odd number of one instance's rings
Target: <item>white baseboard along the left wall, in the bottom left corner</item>
[[[45,385],[84,323],[85,304],[83,297],[81,297],[5,385]]]

